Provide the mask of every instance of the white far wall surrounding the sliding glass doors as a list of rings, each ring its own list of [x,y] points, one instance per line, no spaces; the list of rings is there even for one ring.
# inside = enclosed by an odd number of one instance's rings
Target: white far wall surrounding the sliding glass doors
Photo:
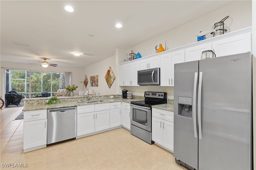
[[[5,91],[5,79],[4,79],[4,70],[5,69],[20,69],[20,70],[32,70],[32,71],[60,71],[60,72],[72,72],[72,84],[78,85],[78,88],[76,91],[74,91],[74,94],[78,94],[79,90],[83,89],[83,83],[80,83],[81,81],[84,81],[84,69],[83,68],[75,68],[75,67],[47,67],[43,68],[39,66],[39,64],[25,64],[25,63],[12,63],[12,62],[4,62],[1,61],[1,73],[0,73],[0,80],[1,80],[1,91],[0,96],[4,97]]]

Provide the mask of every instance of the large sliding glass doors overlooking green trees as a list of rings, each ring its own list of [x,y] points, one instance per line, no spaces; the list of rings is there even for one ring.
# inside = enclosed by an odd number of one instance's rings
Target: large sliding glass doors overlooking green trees
[[[43,72],[6,69],[6,93],[12,89],[31,97],[40,97],[41,93],[56,93],[64,89],[66,76],[71,78],[71,73]]]

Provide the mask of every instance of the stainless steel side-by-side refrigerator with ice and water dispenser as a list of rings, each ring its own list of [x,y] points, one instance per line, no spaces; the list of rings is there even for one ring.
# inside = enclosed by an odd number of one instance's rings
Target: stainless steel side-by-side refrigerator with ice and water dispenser
[[[198,170],[252,170],[252,54],[174,65],[174,157]]]

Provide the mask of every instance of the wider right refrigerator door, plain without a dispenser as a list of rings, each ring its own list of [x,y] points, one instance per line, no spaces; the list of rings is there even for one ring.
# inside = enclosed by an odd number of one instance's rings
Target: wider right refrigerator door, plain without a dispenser
[[[243,53],[199,61],[199,170],[252,169],[251,56]]]

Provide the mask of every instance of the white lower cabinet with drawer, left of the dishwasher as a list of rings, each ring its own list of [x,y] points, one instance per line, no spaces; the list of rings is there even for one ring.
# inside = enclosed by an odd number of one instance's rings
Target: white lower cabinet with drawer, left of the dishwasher
[[[24,112],[23,149],[45,147],[47,143],[47,110]]]

